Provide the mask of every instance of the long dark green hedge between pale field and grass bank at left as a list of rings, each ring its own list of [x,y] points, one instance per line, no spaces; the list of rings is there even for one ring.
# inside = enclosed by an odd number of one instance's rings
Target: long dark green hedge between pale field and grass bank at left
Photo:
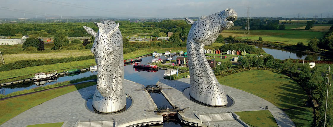
[[[94,58],[95,58],[94,56],[89,55],[89,56],[68,57],[68,58],[58,58],[58,59],[19,60],[14,63],[9,63],[9,64],[0,66],[0,71],[9,71],[9,70],[13,70],[13,69],[20,69],[20,68],[40,66],[40,65],[68,63],[68,62],[72,62],[72,61],[81,61],[81,60],[88,60],[88,59],[94,59]]]

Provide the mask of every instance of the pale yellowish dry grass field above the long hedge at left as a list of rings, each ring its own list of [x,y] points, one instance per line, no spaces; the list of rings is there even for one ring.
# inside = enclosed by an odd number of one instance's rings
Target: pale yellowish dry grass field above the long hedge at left
[[[52,58],[67,58],[93,55],[90,50],[61,50],[58,52],[46,52],[46,53],[19,53],[19,54],[4,54],[3,59],[6,64],[19,60],[29,59],[52,59]],[[15,58],[15,59],[13,59]]]

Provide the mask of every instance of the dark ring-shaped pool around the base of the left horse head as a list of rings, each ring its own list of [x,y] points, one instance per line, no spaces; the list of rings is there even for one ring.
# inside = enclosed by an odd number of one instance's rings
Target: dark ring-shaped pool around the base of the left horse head
[[[124,112],[126,111],[127,109],[129,109],[131,106],[132,106],[132,98],[130,96],[126,97],[126,106],[122,109],[122,110],[119,110],[119,111],[116,111],[116,112],[112,112],[112,113],[103,113],[103,112],[99,112],[97,111],[94,107],[93,107],[93,95],[91,95],[85,102],[85,106],[86,108],[93,112],[93,113],[96,113],[96,114],[103,114],[103,115],[108,115],[108,114],[118,114],[118,113],[121,113],[121,112]]]

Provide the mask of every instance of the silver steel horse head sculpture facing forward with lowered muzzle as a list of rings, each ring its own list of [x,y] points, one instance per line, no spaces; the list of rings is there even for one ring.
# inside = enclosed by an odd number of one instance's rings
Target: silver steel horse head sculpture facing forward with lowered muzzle
[[[118,108],[123,108],[124,104],[126,105],[123,88],[123,36],[118,29],[119,23],[107,20],[95,24],[99,28],[97,33],[92,28],[84,26],[85,30],[95,37],[91,52],[95,55],[97,64],[98,91],[96,90],[93,101],[98,100],[98,102],[96,104],[93,102],[93,106],[98,110],[98,107],[102,106],[101,109],[103,109],[103,105],[109,103],[108,106],[112,105],[113,107],[112,111],[117,111]],[[109,110],[103,112],[109,112]]]

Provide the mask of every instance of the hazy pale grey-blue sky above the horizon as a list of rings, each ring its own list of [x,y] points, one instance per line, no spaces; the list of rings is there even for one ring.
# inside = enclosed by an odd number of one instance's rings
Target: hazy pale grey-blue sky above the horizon
[[[97,16],[108,18],[200,17],[233,8],[238,17],[332,18],[333,0],[1,0],[1,18]]]

